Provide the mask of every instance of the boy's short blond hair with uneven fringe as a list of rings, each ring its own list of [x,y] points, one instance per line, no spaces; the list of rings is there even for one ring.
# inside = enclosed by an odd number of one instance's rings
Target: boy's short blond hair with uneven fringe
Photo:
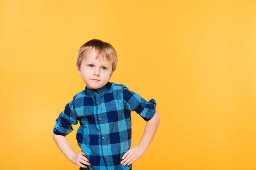
[[[107,59],[108,62],[112,62],[112,71],[116,70],[117,65],[117,55],[116,50],[113,46],[108,42],[103,42],[102,40],[93,39],[86,42],[82,45],[78,50],[78,55],[76,59],[76,66],[80,68],[81,61],[83,59],[84,52],[88,51],[89,49],[95,49],[96,51],[96,59],[102,57],[103,59]]]

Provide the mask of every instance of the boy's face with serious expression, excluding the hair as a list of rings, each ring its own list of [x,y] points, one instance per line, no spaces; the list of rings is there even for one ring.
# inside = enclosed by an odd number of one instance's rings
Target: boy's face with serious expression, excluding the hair
[[[100,57],[96,59],[94,49],[88,50],[83,55],[78,74],[82,76],[87,88],[102,88],[112,76],[112,62],[100,59]]]

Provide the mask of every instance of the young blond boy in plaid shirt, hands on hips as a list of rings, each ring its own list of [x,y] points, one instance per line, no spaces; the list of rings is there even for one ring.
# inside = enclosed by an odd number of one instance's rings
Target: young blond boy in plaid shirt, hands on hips
[[[116,51],[111,44],[90,40],[79,48],[77,70],[86,84],[56,119],[53,139],[62,153],[80,170],[131,170],[131,164],[148,149],[160,116],[156,102],[148,102],[125,85],[108,82],[116,69]],[[131,147],[131,111],[145,121],[140,143]],[[78,124],[75,152],[65,136]]]

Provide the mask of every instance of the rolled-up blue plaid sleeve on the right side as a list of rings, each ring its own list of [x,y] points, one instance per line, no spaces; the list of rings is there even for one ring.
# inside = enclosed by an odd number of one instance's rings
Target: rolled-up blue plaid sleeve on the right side
[[[154,99],[146,101],[139,94],[130,91],[126,86],[123,88],[123,102],[125,109],[135,111],[145,121],[152,119],[156,112],[157,103]]]

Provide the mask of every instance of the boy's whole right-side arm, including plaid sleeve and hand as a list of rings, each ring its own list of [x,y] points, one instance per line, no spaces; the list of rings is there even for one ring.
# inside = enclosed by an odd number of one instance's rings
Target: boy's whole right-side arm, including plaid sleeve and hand
[[[136,147],[130,148],[122,156],[123,160],[121,161],[121,164],[125,166],[126,164],[130,165],[139,159],[148,149],[157,132],[160,116],[155,110],[157,103],[154,99],[150,99],[147,102],[139,94],[130,91],[126,86],[124,86],[122,94],[124,108],[128,111],[136,111],[136,113],[147,121],[140,143]]]

